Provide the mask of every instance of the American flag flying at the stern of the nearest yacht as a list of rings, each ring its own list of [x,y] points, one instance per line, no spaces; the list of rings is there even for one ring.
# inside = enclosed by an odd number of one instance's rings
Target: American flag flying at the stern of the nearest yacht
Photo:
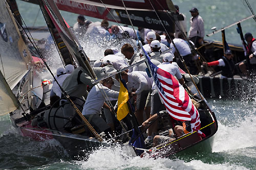
[[[199,130],[201,122],[198,110],[193,105],[183,86],[179,84],[172,74],[154,65],[147,53],[145,51],[144,53],[167,112],[176,120],[190,120],[191,132],[197,131],[202,137],[205,137]]]

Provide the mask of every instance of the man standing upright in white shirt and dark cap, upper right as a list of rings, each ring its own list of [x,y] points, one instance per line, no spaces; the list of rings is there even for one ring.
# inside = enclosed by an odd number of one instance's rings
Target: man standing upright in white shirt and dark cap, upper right
[[[195,46],[198,48],[204,39],[204,20],[199,15],[197,8],[192,8],[190,11],[190,29],[188,32],[188,38],[195,43]]]

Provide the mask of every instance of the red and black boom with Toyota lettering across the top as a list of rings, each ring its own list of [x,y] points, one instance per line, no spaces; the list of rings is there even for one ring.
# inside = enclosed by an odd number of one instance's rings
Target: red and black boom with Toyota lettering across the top
[[[23,1],[38,4],[35,0]],[[55,0],[54,2],[59,10],[130,25],[121,0],[102,0],[102,2],[100,0]],[[154,9],[157,10],[167,31],[174,31],[175,23],[172,20],[184,20],[182,15],[175,13],[171,0],[124,0],[124,4],[136,27],[165,31]]]

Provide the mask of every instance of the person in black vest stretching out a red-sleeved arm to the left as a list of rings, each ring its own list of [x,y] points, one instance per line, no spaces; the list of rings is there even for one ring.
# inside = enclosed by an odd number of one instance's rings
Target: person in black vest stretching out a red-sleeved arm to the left
[[[232,59],[233,55],[231,50],[226,50],[225,56],[217,61],[203,62],[205,66],[218,65],[221,66],[221,78],[233,78],[235,73],[235,66]]]

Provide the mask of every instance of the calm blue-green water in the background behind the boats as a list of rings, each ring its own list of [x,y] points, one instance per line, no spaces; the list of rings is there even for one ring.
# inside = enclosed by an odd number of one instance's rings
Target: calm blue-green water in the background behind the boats
[[[39,7],[34,4],[28,4],[17,0],[18,8],[22,16],[24,17],[28,26],[46,26],[44,17],[39,12],[38,17],[37,12]],[[217,27],[221,29],[225,26],[230,25],[236,21],[239,21],[247,16],[252,15],[249,12],[247,6],[243,0],[173,0],[173,3],[178,5],[180,12],[184,13],[187,17],[187,31],[189,30],[189,18],[191,17],[189,10],[193,7],[197,7],[200,13],[200,16],[204,19],[205,25],[205,34],[210,34],[212,27]],[[256,12],[256,3],[255,0],[249,0],[249,3]],[[77,14],[61,11],[63,18],[69,23],[70,26],[73,26],[77,19]],[[99,21],[97,18],[86,17],[92,21]],[[110,23],[111,25],[117,25],[114,22]],[[256,37],[256,22],[250,18],[241,23],[243,33],[251,32],[252,35]],[[236,30],[237,26],[233,26],[226,30],[226,40],[228,43],[241,44],[240,35]],[[208,40],[218,40],[222,41],[221,33],[213,35],[211,37],[204,37]]]

